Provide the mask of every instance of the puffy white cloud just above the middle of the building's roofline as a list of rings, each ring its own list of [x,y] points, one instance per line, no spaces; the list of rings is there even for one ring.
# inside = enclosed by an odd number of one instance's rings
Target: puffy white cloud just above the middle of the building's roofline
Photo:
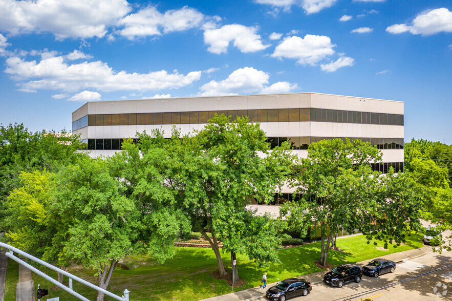
[[[240,68],[221,81],[211,80],[202,85],[200,96],[238,95],[248,93],[288,93],[298,89],[296,83],[279,81],[267,86],[270,75],[252,67]]]

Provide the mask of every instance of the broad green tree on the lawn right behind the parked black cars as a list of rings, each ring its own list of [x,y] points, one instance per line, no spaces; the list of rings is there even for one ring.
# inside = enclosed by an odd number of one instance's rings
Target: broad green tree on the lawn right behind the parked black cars
[[[404,241],[405,231],[420,227],[419,198],[408,197],[413,190],[400,185],[404,178],[373,171],[371,162],[380,160],[380,151],[370,143],[337,138],[312,143],[307,158],[300,160],[303,172],[294,185],[304,197],[283,206],[282,212],[299,230],[307,225],[320,229],[321,265],[326,264],[329,245],[340,227],[361,230],[369,241],[376,238],[385,245],[393,239],[396,244]],[[404,208],[400,216],[394,212],[398,207]]]

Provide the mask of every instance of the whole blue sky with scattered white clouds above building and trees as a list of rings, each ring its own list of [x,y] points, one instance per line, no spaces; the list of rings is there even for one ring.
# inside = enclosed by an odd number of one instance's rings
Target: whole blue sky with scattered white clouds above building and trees
[[[0,122],[71,129],[86,101],[318,92],[404,101],[452,144],[452,3],[0,0]]]

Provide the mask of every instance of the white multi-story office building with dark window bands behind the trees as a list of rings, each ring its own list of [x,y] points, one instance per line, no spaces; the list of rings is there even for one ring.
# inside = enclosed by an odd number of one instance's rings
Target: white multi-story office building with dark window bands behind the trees
[[[124,138],[161,128],[170,137],[200,130],[215,114],[248,116],[260,122],[271,145],[289,140],[292,152],[307,156],[310,143],[322,139],[360,138],[381,149],[383,164],[403,171],[403,102],[319,93],[187,97],[88,102],[72,114],[72,130],[87,143],[91,156],[109,156]],[[274,204],[292,198],[293,189],[275,193]],[[260,208],[262,209],[262,208]],[[268,208],[265,208],[268,210]]]

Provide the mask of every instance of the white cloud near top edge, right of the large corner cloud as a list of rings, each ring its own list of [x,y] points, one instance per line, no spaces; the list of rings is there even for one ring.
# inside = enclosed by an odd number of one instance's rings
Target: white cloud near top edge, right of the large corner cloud
[[[130,14],[118,23],[124,26],[119,34],[129,39],[150,35],[161,35],[174,31],[184,31],[199,27],[204,21],[204,15],[196,9],[184,6],[178,10],[168,10],[164,14],[155,7],[141,9]]]

